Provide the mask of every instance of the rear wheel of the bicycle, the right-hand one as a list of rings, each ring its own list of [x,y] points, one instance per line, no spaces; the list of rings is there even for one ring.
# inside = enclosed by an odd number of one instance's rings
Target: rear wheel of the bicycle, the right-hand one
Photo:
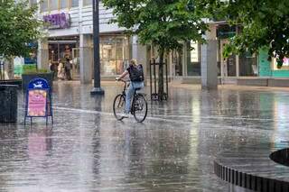
[[[147,103],[143,95],[136,95],[133,101],[133,114],[138,123],[144,122],[147,114]]]

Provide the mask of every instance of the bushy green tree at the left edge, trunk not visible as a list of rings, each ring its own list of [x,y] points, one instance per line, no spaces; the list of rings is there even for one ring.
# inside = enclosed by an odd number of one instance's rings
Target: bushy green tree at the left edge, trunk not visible
[[[0,55],[28,56],[29,42],[37,40],[42,26],[36,18],[37,6],[28,1],[0,0]]]

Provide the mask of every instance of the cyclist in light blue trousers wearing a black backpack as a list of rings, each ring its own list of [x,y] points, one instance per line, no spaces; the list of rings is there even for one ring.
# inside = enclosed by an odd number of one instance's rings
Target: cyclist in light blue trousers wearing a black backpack
[[[117,80],[125,78],[126,75],[129,75],[130,78],[130,85],[126,91],[126,109],[125,113],[123,114],[124,118],[128,117],[128,113],[130,112],[130,105],[132,96],[135,93],[135,89],[143,88],[144,87],[144,69],[141,64],[137,64],[136,59],[131,59],[129,62],[129,67],[126,69],[123,74],[121,74]]]

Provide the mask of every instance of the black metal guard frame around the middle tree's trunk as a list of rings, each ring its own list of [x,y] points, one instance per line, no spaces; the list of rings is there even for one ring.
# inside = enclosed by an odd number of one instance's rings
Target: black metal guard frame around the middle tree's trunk
[[[158,94],[158,88],[156,87],[158,85],[157,78],[156,78],[156,66],[160,66],[160,63],[156,63],[155,59],[151,59],[150,60],[150,88],[151,88],[151,99],[154,101],[162,101],[162,100],[168,100],[168,93],[169,93],[169,87],[168,87],[168,66],[167,66],[167,60],[165,59],[165,62],[163,63],[164,66],[164,72],[165,72],[165,88],[164,90],[166,90],[166,93],[163,93],[163,96],[159,96]],[[154,72],[152,71],[152,69],[154,69]],[[154,75],[153,75],[154,73]],[[153,92],[153,81],[154,81],[154,92]]]

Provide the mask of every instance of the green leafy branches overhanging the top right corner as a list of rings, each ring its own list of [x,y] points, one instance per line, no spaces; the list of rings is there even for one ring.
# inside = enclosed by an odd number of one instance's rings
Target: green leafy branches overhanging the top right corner
[[[204,0],[211,14],[224,18],[231,25],[240,25],[241,32],[231,39],[224,55],[244,51],[258,52],[269,47],[268,59],[277,58],[282,66],[289,57],[289,1],[288,0]]]

